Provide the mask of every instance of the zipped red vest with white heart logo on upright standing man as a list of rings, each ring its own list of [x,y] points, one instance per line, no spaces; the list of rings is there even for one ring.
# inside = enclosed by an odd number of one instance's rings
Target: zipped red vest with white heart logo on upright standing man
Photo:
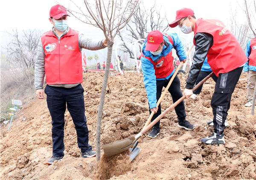
[[[47,84],[83,82],[82,54],[79,49],[78,35],[79,32],[71,28],[60,40],[52,33],[52,30],[42,35]]]

